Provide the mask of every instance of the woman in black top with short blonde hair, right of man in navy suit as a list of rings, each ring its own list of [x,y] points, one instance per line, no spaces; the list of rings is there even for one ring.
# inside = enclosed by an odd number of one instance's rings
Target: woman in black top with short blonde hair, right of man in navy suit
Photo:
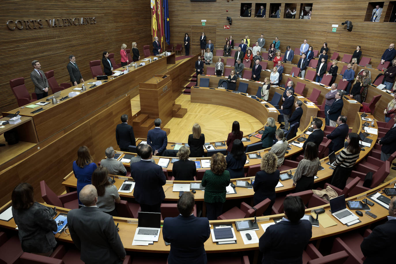
[[[177,152],[178,161],[173,163],[172,174],[175,180],[194,180],[197,174],[195,162],[188,160],[190,150],[182,146]]]

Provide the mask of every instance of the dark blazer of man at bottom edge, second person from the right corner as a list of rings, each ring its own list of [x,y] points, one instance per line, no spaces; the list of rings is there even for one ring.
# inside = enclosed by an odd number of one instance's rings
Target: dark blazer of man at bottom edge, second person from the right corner
[[[262,263],[303,263],[303,251],[311,236],[312,225],[308,220],[280,221],[268,226],[259,239]]]

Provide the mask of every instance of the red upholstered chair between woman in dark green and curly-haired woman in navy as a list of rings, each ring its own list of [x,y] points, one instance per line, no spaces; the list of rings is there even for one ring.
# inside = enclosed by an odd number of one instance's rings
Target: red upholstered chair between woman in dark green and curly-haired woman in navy
[[[265,199],[261,203],[251,207],[245,202],[241,203],[241,208],[233,207],[227,212],[221,214],[217,217],[217,220],[226,220],[226,219],[238,219],[238,218],[248,218],[248,217],[261,217],[265,210],[267,210],[270,205],[271,200],[269,198]],[[256,210],[255,210],[256,209]]]

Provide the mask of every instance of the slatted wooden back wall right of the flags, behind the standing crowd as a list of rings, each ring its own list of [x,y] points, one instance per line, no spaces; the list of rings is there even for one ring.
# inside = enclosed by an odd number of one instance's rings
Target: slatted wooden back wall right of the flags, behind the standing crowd
[[[253,9],[256,3],[267,3],[267,17],[240,17],[241,2],[252,3]],[[385,2],[387,6],[389,1]],[[297,12],[300,5],[312,3],[312,19],[286,19],[286,18],[269,18],[269,6],[271,3],[282,3],[282,9],[286,3],[297,4]],[[263,33],[266,39],[265,47],[268,48],[270,43],[278,36],[280,40],[280,49],[286,50],[286,46],[293,49],[300,47],[304,38],[308,39],[308,44],[314,49],[320,49],[323,42],[328,42],[329,55],[334,51],[340,53],[339,59],[344,53],[353,54],[357,45],[362,46],[362,56],[371,57],[373,66],[379,64],[380,58],[389,46],[395,42],[396,23],[385,23],[385,12],[381,15],[381,22],[365,22],[365,16],[369,0],[308,0],[308,1],[242,1],[234,0],[217,0],[216,2],[190,2],[190,1],[169,1],[169,19],[171,30],[171,44],[183,43],[183,36],[188,32],[188,27],[202,28],[206,33],[206,38],[215,39],[215,47],[223,47],[226,38],[230,35],[236,44],[249,35],[251,42],[255,42],[260,34]],[[385,6],[384,6],[385,7]],[[370,7],[371,8],[371,7]],[[199,15],[194,15],[200,10]],[[371,8],[372,10],[372,8]],[[228,11],[228,12],[227,12]],[[284,14],[281,13],[281,17]],[[230,29],[224,29],[224,25],[229,25],[227,17],[232,18]],[[297,14],[296,14],[296,17]],[[202,26],[201,19],[206,19],[206,25]],[[346,30],[341,23],[346,20],[352,21],[352,32]],[[332,24],[338,24],[336,32],[332,32]],[[215,27],[215,36],[213,30],[209,27]],[[202,32],[191,30],[190,38],[192,47],[190,50],[193,54],[199,51],[199,36]],[[210,33],[210,34],[209,34]],[[184,46],[183,46],[184,52]]]

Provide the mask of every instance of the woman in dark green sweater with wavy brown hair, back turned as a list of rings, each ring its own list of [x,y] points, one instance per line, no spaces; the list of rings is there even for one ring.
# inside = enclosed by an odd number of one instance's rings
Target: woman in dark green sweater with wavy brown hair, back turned
[[[204,201],[206,204],[206,217],[217,220],[225,203],[225,188],[230,184],[230,173],[226,170],[227,163],[220,152],[210,158],[210,170],[206,170],[202,178],[205,187]]]

